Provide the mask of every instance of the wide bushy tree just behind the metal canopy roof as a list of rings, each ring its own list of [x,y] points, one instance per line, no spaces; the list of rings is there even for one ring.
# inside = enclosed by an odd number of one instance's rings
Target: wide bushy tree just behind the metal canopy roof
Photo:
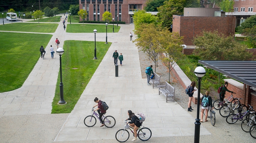
[[[247,46],[233,40],[232,36],[226,37],[218,31],[202,32],[202,36],[196,36],[193,44],[196,56],[202,60],[250,60],[252,53],[246,51]]]

